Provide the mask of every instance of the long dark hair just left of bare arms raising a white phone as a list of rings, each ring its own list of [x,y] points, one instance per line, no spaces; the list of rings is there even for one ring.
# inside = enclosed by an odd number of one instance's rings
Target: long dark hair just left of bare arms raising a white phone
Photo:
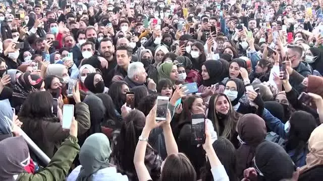
[[[136,174],[133,157],[139,136],[145,126],[145,120],[145,115],[138,110],[130,111],[124,119],[117,138],[117,144],[111,154],[111,158],[118,165],[118,169],[122,173],[131,172]]]

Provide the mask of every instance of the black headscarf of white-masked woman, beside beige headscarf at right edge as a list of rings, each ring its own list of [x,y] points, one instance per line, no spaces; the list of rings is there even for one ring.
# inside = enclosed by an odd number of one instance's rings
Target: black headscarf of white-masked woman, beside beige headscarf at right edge
[[[289,122],[291,127],[286,141],[286,152],[295,150],[291,158],[296,164],[298,155],[307,149],[307,141],[317,124],[315,118],[305,111],[294,112]]]

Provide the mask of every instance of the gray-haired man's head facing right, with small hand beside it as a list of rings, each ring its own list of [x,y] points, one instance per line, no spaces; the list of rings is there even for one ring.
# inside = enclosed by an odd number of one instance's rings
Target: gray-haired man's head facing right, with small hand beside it
[[[135,86],[145,85],[147,73],[141,62],[132,62],[128,66],[127,76],[124,78],[124,81],[128,83],[129,88]],[[150,91],[155,91],[156,84],[152,79],[148,81],[148,89]]]

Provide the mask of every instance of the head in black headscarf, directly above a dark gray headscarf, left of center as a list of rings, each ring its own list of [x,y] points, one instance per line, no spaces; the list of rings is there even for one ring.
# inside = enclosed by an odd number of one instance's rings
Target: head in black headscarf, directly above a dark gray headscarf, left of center
[[[89,73],[84,80],[85,87],[93,94],[105,92],[104,81],[99,73]]]

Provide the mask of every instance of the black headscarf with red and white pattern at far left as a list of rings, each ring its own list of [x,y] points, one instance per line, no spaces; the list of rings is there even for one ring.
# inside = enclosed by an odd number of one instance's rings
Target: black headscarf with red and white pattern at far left
[[[27,98],[29,93],[34,91],[34,88],[40,89],[42,79],[39,75],[31,74],[30,72],[23,73],[17,79],[13,87],[13,96]]]

